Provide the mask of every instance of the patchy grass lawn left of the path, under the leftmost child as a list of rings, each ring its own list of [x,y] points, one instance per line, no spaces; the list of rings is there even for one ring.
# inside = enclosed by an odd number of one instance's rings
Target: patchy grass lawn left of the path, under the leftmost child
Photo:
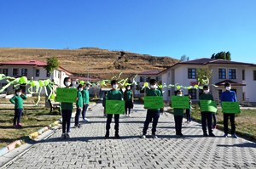
[[[53,112],[55,113],[55,112]],[[21,129],[13,127],[14,110],[0,108],[0,148],[21,139],[26,142],[28,135],[37,132],[52,122],[59,120],[61,115],[49,115],[49,109],[42,107],[25,107],[21,116]]]

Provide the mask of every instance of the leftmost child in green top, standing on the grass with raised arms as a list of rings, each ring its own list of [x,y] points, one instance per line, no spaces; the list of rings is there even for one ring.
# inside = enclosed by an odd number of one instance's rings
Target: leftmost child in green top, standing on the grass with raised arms
[[[26,95],[22,93],[22,89],[15,90],[15,96],[9,101],[15,104],[15,117],[14,117],[14,127],[22,127],[20,124],[20,118],[23,110],[23,99],[26,99]]]

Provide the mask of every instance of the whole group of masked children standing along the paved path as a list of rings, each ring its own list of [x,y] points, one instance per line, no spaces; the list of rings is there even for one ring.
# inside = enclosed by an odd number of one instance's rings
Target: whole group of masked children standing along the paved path
[[[161,91],[158,89],[158,85],[155,79],[151,79],[149,81],[149,89],[146,90],[146,96],[162,96]],[[64,85],[67,88],[72,87],[72,82],[70,77],[66,77],[64,79]],[[122,94],[121,91],[118,89],[119,85],[116,80],[111,82],[112,89],[106,93],[104,100],[125,100],[125,115],[131,115],[131,108],[133,107],[133,93],[131,92],[131,86],[127,86],[125,89],[125,93]],[[230,83],[225,83],[225,92],[222,93],[220,100],[221,102],[237,102],[236,93],[231,91]],[[85,118],[86,110],[89,106],[89,88],[90,84],[86,84],[85,86],[79,84],[78,88],[78,95],[76,101],[76,115],[75,115],[75,124],[74,127],[81,127],[79,123],[79,116],[82,113],[83,121],[88,121]],[[124,95],[124,96],[123,96]],[[175,91],[175,95],[182,96],[183,92],[181,90]],[[9,101],[15,104],[15,117],[14,117],[14,127],[21,127],[20,124],[20,116],[22,115],[23,109],[23,99],[26,99],[26,95],[22,93],[21,89],[17,89],[15,92],[15,96],[10,99]],[[210,93],[209,87],[203,87],[203,93],[200,96],[200,100],[212,100],[212,93]],[[191,104],[191,102],[190,102]],[[103,105],[105,106],[105,101],[103,101]],[[71,116],[73,111],[73,103],[61,103],[61,116],[62,116],[62,134],[61,138],[70,138],[70,123],[71,123]],[[174,111],[174,121],[175,121],[175,129],[177,136],[183,136],[182,133],[182,123],[183,123],[183,112],[184,109],[173,109]],[[189,115],[190,115],[190,108],[189,108]],[[105,110],[104,110],[104,113]],[[212,112],[208,111],[201,111],[201,125],[203,136],[207,137],[215,137],[212,133]],[[188,115],[188,112],[187,112]],[[188,115],[188,116],[189,116]],[[119,114],[107,114],[107,123],[106,123],[106,134],[105,138],[109,138],[109,130],[112,118],[114,116],[114,129],[115,129],[115,138],[119,138]],[[156,127],[158,124],[158,120],[160,117],[160,109],[148,109],[146,120],[144,121],[143,126],[143,136],[142,138],[146,138],[146,134],[148,131],[148,125],[152,121],[152,138],[157,138],[156,136]],[[213,118],[214,119],[214,118]],[[224,137],[228,136],[228,121],[230,119],[231,124],[231,134],[233,138],[237,138],[236,136],[236,123],[235,123],[235,113],[224,113]],[[190,117],[188,117],[188,121],[191,121]],[[214,121],[214,125],[216,126],[216,117]],[[213,127],[214,127],[213,125]],[[208,129],[208,132],[207,132]]]

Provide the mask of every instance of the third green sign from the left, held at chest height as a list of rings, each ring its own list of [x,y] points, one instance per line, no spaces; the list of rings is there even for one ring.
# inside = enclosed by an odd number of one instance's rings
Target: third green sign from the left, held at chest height
[[[156,110],[164,107],[164,98],[162,96],[145,96],[144,108]]]

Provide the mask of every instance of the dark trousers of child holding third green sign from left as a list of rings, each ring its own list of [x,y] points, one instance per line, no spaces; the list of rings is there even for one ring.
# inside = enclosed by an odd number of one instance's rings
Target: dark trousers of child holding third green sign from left
[[[143,135],[147,134],[148,125],[152,121],[152,119],[153,119],[152,134],[155,135],[156,126],[157,126],[159,117],[160,117],[160,110],[147,111],[146,121],[144,122],[144,127],[143,127]]]

